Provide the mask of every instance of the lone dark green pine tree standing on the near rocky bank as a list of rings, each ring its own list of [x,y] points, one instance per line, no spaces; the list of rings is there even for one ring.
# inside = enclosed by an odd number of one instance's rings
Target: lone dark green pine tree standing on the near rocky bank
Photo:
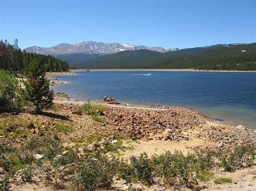
[[[23,80],[25,88],[22,97],[36,107],[36,112],[52,106],[53,91],[49,88],[50,80],[45,77],[45,67],[37,58],[33,58],[26,71],[27,80]]]

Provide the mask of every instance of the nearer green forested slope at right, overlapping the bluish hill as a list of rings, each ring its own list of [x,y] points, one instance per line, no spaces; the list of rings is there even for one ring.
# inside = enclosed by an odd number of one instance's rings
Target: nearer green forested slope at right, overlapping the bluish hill
[[[134,63],[129,67],[256,70],[256,43],[233,47],[212,47],[198,53],[172,55],[156,60]]]

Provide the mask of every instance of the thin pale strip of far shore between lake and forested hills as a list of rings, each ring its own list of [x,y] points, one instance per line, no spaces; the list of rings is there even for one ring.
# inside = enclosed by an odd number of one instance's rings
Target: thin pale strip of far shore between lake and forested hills
[[[87,71],[89,70],[89,71]],[[235,72],[256,73],[256,70],[195,70],[195,69],[70,69],[71,72],[122,72],[122,71],[157,71],[157,72]]]

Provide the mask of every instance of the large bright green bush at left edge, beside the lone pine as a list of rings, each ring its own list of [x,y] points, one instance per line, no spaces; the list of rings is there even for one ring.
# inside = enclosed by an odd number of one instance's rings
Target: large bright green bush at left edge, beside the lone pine
[[[15,75],[0,69],[0,108],[19,109],[21,100],[18,98],[18,81]]]

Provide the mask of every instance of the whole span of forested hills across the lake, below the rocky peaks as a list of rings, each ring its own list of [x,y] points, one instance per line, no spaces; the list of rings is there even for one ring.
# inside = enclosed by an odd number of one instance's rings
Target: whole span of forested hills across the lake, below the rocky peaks
[[[123,51],[73,63],[72,67],[84,69],[256,70],[256,43],[186,48],[166,53],[143,49]]]

